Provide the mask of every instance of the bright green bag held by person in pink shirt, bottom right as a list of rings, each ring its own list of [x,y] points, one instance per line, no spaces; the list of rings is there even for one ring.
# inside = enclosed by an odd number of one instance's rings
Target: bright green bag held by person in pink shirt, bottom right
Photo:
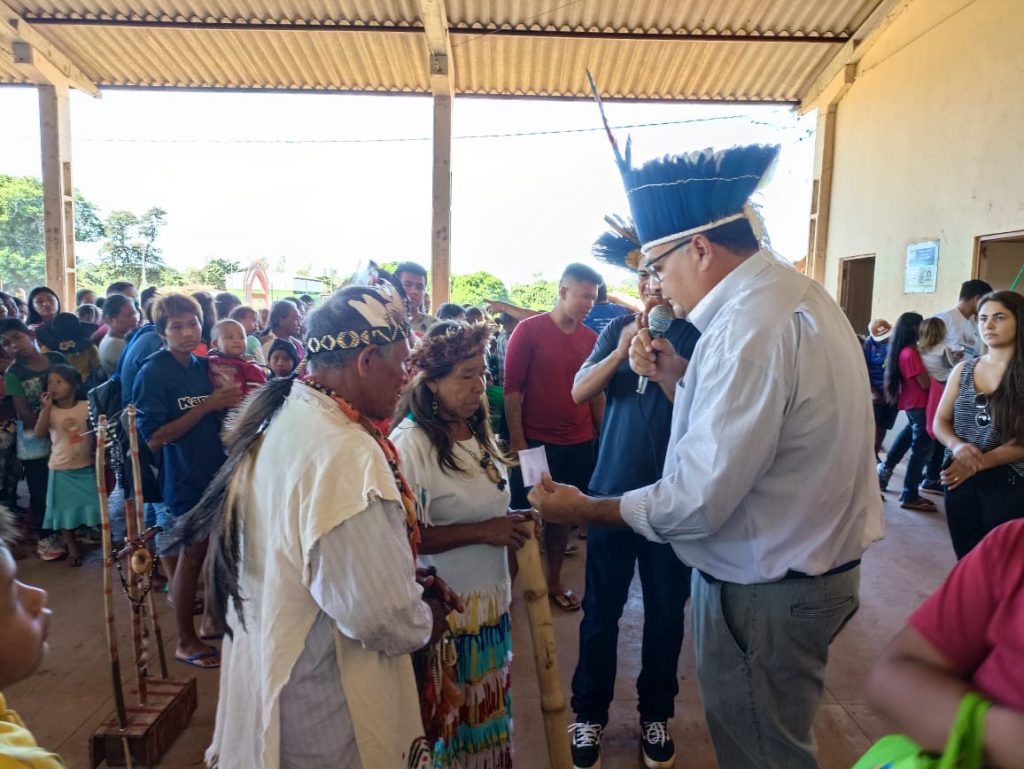
[[[853,769],[984,769],[985,714],[991,702],[968,692],[941,756],[925,753],[902,734],[883,737]]]

